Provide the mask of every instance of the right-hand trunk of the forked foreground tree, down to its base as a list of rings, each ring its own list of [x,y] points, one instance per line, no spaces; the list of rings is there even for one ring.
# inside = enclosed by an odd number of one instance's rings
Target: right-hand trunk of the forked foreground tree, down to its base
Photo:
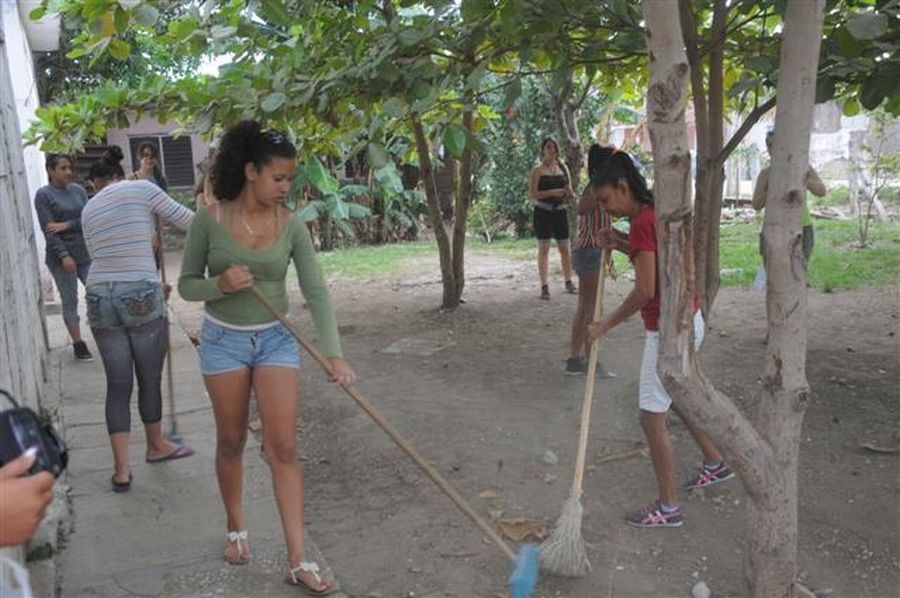
[[[825,0],[789,2],[781,44],[779,101],[763,225],[769,320],[764,400],[771,408],[761,410],[760,421],[760,432],[775,448],[781,472],[773,476],[771,503],[751,506],[751,515],[757,510],[765,516],[765,525],[752,526],[750,536],[751,587],[762,596],[792,596],[797,568],[797,464],[809,402],[801,220],[824,9]]]

